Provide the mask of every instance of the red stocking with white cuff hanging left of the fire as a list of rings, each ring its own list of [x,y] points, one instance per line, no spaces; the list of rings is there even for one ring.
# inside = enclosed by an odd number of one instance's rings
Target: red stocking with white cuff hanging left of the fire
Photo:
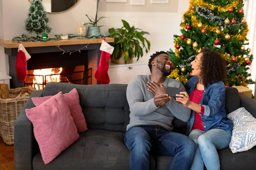
[[[16,58],[16,73],[22,82],[25,81],[27,76],[26,60],[30,59],[30,55],[22,44],[19,45],[18,54]]]

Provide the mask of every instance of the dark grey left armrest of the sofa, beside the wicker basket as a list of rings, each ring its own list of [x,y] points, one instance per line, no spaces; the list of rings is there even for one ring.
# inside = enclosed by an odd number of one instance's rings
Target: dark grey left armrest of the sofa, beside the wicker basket
[[[34,108],[32,97],[43,96],[43,91],[33,91],[18,116],[14,126],[15,170],[32,170],[33,149],[35,149],[33,125],[25,109]]]

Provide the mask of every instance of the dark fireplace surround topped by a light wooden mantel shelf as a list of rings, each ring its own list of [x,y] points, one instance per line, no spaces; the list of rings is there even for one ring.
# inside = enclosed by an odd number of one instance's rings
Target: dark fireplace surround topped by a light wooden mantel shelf
[[[106,42],[114,42],[113,38],[105,38]],[[99,66],[101,51],[99,50],[102,39],[69,39],[49,42],[23,42],[22,44],[31,55],[27,61],[27,70],[55,67],[73,67],[84,65],[84,75],[89,75],[87,70],[92,68],[92,84],[100,84],[94,78],[94,73]],[[87,48],[84,48],[84,46]],[[9,55],[9,76],[11,88],[23,87],[24,83],[17,77],[15,63],[19,43],[10,40],[0,40],[0,46],[4,47],[5,54]],[[76,51],[71,55],[64,51]],[[87,84],[84,80],[84,84]]]

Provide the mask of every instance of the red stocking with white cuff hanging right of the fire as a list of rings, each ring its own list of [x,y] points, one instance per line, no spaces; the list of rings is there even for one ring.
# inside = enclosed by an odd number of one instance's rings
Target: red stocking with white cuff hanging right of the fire
[[[101,84],[108,84],[110,81],[108,76],[108,60],[113,53],[114,47],[103,40],[99,49],[102,51],[102,54],[99,60],[99,67],[95,71],[94,77]]]

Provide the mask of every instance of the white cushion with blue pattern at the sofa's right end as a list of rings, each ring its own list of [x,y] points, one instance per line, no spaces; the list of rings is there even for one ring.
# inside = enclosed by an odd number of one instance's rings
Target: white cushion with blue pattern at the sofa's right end
[[[230,149],[232,153],[249,150],[256,145],[256,118],[245,108],[227,115],[233,122]]]

